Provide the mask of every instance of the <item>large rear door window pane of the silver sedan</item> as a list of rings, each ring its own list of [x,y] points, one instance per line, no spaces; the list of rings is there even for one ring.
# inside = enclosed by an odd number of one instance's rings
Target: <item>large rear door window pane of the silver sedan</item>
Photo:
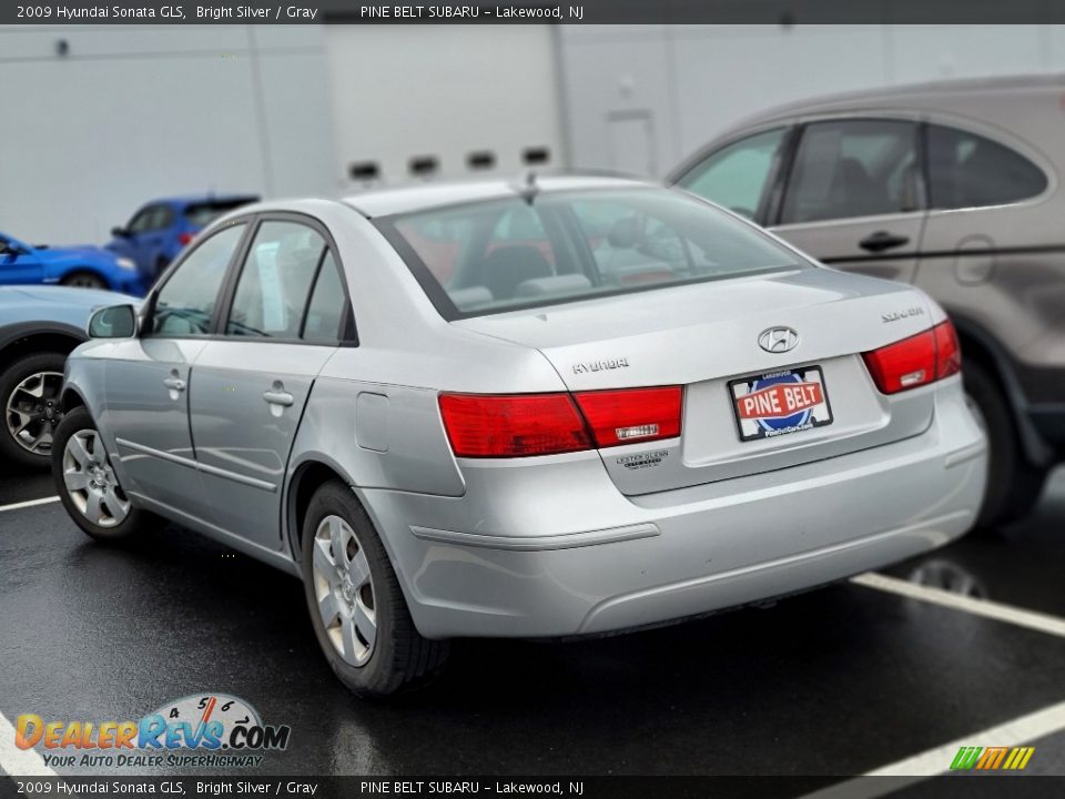
[[[264,222],[241,270],[229,335],[297,338],[325,240],[296,222]]]

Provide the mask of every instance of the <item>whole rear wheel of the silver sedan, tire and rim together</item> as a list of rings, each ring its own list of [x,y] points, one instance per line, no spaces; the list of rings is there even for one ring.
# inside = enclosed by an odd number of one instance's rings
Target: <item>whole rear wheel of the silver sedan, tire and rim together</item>
[[[338,481],[318,488],[302,534],[311,624],[341,681],[358,696],[386,697],[435,677],[448,644],[415,629],[388,555],[351,488]],[[341,568],[335,542],[343,547]]]

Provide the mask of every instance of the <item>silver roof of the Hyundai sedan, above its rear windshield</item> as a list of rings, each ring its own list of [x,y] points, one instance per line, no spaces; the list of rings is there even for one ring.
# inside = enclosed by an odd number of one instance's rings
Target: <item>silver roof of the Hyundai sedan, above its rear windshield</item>
[[[550,175],[537,176],[539,192],[559,192],[572,190],[647,188],[646,181],[630,178],[602,175]],[[405,189],[385,189],[367,191],[345,198],[342,202],[351,205],[368,219],[390,216],[398,213],[412,213],[445,205],[459,205],[467,202],[497,200],[518,196],[523,188],[520,181],[478,181],[466,183],[430,183]]]

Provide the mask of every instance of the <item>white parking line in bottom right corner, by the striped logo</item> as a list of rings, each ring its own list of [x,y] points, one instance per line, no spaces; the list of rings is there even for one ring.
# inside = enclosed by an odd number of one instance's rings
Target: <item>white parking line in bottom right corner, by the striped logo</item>
[[[1062,730],[1065,730],[1065,701],[964,738],[957,738],[950,744],[929,749],[904,760],[882,766],[861,777],[808,793],[801,799],[872,799],[873,797],[888,796],[907,785],[950,771],[954,756],[963,746],[1027,746],[1039,738],[1045,738]],[[1036,747],[1034,758],[1038,757],[1039,749]],[[895,779],[868,779],[869,777],[893,777]]]

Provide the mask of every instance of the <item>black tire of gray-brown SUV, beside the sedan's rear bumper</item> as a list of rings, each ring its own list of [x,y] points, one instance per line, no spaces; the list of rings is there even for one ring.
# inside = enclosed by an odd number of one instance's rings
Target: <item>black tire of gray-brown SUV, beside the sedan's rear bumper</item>
[[[987,434],[987,490],[976,516],[982,535],[1007,536],[1010,523],[1025,516],[1039,498],[1046,469],[1028,463],[1020,431],[998,382],[972,361],[962,371],[966,398]]]

